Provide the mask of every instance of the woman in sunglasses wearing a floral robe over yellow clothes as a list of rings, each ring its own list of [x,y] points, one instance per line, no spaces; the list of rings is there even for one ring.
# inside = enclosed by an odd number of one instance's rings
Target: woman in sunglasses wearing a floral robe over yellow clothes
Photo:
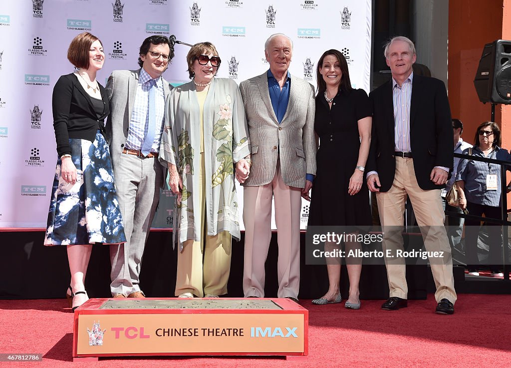
[[[167,99],[160,147],[177,195],[175,294],[217,297],[227,293],[231,237],[240,238],[234,177],[248,177],[248,129],[238,85],[215,78],[221,62],[215,46],[195,44],[187,62],[192,81]]]

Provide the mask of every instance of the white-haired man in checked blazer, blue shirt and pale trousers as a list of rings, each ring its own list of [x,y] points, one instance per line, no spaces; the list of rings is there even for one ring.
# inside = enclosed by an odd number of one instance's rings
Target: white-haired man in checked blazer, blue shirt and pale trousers
[[[270,69],[240,83],[251,142],[244,183],[245,297],[264,297],[271,239],[271,202],[278,235],[278,297],[297,301],[300,287],[301,197],[310,200],[316,174],[314,87],[288,72],[293,43],[282,33],[265,43]]]

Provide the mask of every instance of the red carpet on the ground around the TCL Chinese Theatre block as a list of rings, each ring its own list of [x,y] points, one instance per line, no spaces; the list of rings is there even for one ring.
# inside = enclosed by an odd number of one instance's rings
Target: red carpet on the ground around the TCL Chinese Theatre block
[[[382,301],[309,309],[309,357],[101,359],[73,363],[73,314],[65,300],[0,301],[0,353],[42,353],[41,362],[0,362],[0,367],[478,367],[511,366],[511,297],[461,294],[452,316],[433,313],[433,295],[399,311]]]

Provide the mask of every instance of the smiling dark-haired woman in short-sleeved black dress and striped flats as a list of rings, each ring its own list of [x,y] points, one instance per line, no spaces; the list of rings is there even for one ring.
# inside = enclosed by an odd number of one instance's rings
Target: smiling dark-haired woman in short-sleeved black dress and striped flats
[[[317,64],[317,96],[314,129],[319,137],[317,175],[311,195],[309,225],[370,225],[369,192],[364,166],[371,139],[371,110],[363,89],[353,89],[346,59],[337,50],[326,51]],[[325,243],[325,250],[336,245]],[[345,243],[349,249],[359,243]],[[312,301],[323,305],[341,302],[340,260],[327,262],[329,289]],[[346,262],[350,279],[345,308],[359,309],[361,259]]]

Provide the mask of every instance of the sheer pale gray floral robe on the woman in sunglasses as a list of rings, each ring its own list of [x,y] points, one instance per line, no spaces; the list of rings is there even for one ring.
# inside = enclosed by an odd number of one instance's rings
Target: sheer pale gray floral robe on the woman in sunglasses
[[[204,102],[203,123],[207,235],[228,231],[239,239],[234,165],[248,156],[250,145],[236,82],[226,78],[212,80]],[[183,182],[182,201],[176,204],[174,216],[174,241],[179,243],[180,251],[185,240],[199,241],[203,228],[200,200],[194,200],[201,170],[199,125],[195,84],[190,82],[174,88],[167,98],[159,159],[165,165],[175,165]]]

